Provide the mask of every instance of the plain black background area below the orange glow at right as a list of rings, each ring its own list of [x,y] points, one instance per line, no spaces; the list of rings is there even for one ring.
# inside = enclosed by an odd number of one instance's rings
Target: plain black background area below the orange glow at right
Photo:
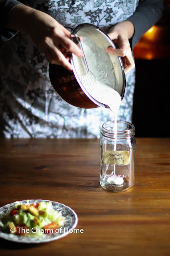
[[[136,60],[133,124],[137,137],[170,135],[170,60]]]

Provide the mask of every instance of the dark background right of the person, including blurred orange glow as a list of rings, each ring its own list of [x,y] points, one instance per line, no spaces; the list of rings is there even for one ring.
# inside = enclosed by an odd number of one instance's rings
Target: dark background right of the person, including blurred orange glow
[[[170,0],[154,28],[135,46],[136,86],[132,123],[136,137],[170,135]]]

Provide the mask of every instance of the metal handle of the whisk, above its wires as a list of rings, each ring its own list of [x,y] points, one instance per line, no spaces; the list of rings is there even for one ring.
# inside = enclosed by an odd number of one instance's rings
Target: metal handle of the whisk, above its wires
[[[81,40],[79,38],[79,36],[77,36],[76,34],[70,34],[70,38],[71,40],[77,44],[77,46],[79,46],[79,48],[82,50],[83,52],[83,56],[82,57],[79,57],[79,65],[81,66],[82,70],[81,70],[81,75],[87,75],[89,73],[89,68],[88,68],[88,65],[87,65],[87,61],[86,61],[86,58],[85,58],[85,54],[84,54],[84,51],[83,51],[83,47],[82,47],[82,44],[81,44]]]

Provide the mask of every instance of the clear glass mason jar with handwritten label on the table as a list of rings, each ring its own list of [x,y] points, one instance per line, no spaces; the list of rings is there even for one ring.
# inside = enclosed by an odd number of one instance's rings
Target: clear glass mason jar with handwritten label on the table
[[[134,185],[135,138],[134,125],[117,121],[104,123],[100,142],[100,184],[103,189],[121,192]]]

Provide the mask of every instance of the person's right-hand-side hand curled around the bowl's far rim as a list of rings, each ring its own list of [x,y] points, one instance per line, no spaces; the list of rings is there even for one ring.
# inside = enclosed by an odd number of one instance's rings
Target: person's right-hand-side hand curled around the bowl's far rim
[[[128,41],[128,39],[132,37],[133,33],[133,24],[130,21],[125,20],[111,28],[108,34],[111,40],[119,45],[119,48],[114,49],[109,47],[106,51],[110,54],[121,56],[125,74],[135,67],[134,60],[132,58],[132,50]]]

